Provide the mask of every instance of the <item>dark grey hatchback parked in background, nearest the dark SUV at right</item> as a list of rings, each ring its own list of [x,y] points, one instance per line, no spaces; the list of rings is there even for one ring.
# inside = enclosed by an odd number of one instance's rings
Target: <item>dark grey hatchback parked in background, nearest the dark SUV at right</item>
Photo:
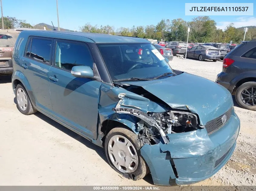
[[[213,46],[198,45],[187,50],[187,58],[196,58],[200,61],[208,59],[217,62],[221,59],[221,53],[219,49]]]

